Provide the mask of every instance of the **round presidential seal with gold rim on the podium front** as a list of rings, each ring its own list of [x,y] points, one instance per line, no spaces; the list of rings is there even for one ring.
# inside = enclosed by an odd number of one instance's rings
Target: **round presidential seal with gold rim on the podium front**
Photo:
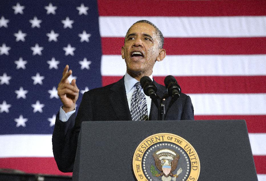
[[[200,160],[184,138],[158,133],[139,144],[133,156],[133,170],[138,181],[196,181]]]

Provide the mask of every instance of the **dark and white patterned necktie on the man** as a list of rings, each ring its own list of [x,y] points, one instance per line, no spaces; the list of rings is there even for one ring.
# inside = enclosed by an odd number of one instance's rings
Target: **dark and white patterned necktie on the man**
[[[132,121],[145,121],[148,120],[148,109],[146,97],[141,92],[141,85],[139,82],[135,84],[136,89],[131,98],[131,118]]]

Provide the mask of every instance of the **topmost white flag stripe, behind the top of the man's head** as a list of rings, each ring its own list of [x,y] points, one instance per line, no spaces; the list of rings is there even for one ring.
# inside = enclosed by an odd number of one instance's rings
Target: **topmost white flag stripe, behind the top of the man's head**
[[[266,36],[266,16],[234,17],[99,17],[101,37],[125,37],[136,21],[154,23],[165,37]]]

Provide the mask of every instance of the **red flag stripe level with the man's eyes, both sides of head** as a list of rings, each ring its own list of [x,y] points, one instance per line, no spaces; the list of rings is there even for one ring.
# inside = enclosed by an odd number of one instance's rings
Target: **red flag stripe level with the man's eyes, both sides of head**
[[[265,1],[266,2],[266,1]],[[123,37],[102,37],[104,55],[120,55]],[[266,37],[247,38],[165,38],[167,55],[266,54]]]

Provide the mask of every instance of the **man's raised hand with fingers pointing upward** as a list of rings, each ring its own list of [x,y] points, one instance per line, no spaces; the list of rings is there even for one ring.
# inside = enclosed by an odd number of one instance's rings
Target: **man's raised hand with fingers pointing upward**
[[[68,71],[69,66],[66,65],[63,71],[63,77],[58,84],[57,94],[63,103],[63,110],[67,113],[75,109],[78,100],[78,92],[80,91],[73,79],[69,84],[68,77],[72,74],[72,70]]]

